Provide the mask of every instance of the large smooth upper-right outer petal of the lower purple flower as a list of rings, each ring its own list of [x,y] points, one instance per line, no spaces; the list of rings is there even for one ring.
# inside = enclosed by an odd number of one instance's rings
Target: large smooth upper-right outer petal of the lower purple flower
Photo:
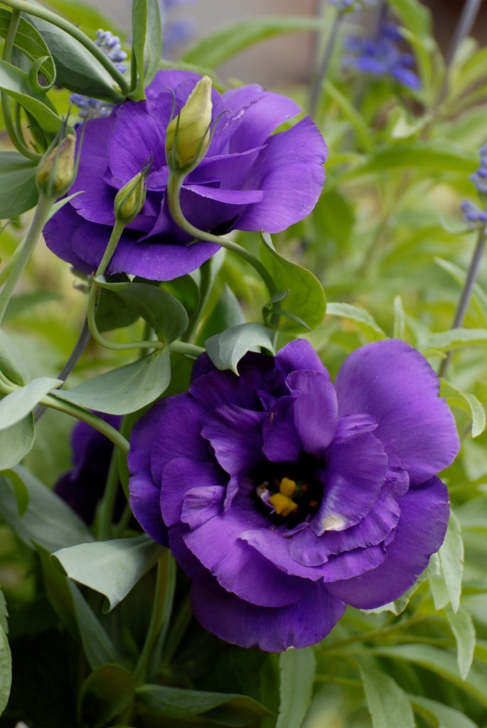
[[[406,466],[418,485],[454,461],[459,451],[454,416],[438,398],[440,384],[427,360],[392,339],[356,349],[335,383],[341,416],[367,413],[387,455]]]

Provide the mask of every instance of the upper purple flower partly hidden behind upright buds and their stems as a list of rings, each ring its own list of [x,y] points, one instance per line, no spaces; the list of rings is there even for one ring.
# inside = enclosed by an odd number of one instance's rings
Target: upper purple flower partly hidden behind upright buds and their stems
[[[127,101],[106,119],[86,124],[79,172],[68,202],[44,228],[48,247],[90,273],[100,263],[114,225],[116,192],[153,159],[146,203],[122,234],[108,273],[151,280],[189,273],[218,250],[210,242],[189,245],[173,222],[165,190],[165,130],[197,81],[186,71],[159,71],[146,101]],[[184,181],[183,213],[199,229],[279,232],[311,212],[325,178],[326,145],[308,116],[272,134],[299,114],[294,101],[260,86],[220,95],[213,90],[215,132],[205,159]]]

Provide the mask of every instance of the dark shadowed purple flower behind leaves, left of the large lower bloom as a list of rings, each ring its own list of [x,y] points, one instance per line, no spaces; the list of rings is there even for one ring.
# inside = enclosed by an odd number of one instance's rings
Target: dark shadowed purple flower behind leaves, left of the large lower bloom
[[[112,427],[119,427],[119,416],[97,413]],[[60,496],[85,523],[92,523],[95,510],[105,490],[113,444],[105,435],[85,422],[78,422],[71,433],[74,467],[60,477],[54,486]],[[125,499],[120,491],[116,514],[122,513]]]

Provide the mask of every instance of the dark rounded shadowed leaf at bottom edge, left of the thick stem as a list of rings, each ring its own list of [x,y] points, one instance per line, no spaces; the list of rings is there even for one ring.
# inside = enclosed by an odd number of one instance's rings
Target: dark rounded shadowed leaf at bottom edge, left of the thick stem
[[[84,681],[79,715],[90,728],[103,728],[129,707],[135,695],[132,675],[120,665],[102,665]]]

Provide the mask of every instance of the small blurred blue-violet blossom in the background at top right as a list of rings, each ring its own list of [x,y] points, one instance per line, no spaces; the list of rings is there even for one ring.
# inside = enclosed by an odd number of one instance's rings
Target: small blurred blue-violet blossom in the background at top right
[[[384,23],[376,38],[349,38],[347,48],[353,55],[345,57],[347,66],[354,66],[358,71],[374,76],[389,76],[403,86],[417,90],[421,81],[411,71],[414,58],[398,47],[402,41],[397,25]]]

